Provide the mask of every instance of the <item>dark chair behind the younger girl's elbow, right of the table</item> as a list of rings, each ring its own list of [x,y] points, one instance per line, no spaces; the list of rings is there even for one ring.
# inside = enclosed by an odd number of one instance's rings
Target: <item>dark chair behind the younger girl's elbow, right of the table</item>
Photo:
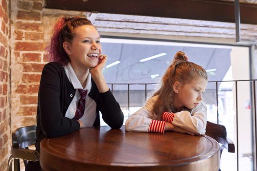
[[[207,121],[206,135],[210,136],[221,144],[220,157],[224,148],[227,149],[228,152],[234,152],[234,143],[232,140],[227,138],[227,130],[225,126]]]

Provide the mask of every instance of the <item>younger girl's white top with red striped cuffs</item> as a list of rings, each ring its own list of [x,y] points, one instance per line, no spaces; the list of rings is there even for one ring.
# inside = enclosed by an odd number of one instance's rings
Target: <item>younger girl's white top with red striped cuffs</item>
[[[177,113],[165,111],[162,120],[157,120],[153,115],[152,108],[158,95],[151,97],[144,107],[133,113],[126,121],[127,131],[137,132],[164,132],[166,122],[174,126],[187,129],[195,134],[205,134],[207,123],[207,107],[201,101],[198,106],[191,110],[183,110]]]

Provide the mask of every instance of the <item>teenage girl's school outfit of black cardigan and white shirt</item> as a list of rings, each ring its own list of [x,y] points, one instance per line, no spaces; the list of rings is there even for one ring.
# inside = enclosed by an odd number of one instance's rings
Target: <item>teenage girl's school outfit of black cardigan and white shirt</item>
[[[111,128],[120,128],[123,113],[110,89],[100,93],[91,75],[86,80],[88,89],[84,115],[79,119],[85,127],[100,126],[99,111]],[[59,137],[78,130],[80,124],[74,119],[80,98],[76,88],[83,88],[70,64],[63,66],[50,62],[43,68],[38,93],[36,150],[40,151],[43,138]]]

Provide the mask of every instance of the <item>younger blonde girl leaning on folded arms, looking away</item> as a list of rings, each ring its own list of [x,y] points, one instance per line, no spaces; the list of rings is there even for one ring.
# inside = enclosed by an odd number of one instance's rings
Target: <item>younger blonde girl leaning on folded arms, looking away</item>
[[[207,107],[202,94],[207,80],[203,67],[188,62],[185,52],[177,52],[164,73],[161,88],[127,119],[126,130],[205,134]]]

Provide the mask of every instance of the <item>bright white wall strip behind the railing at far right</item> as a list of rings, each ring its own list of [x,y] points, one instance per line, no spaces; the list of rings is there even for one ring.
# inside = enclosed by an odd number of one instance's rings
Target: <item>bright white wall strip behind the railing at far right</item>
[[[250,79],[249,48],[233,47],[231,51],[231,65],[233,80]],[[235,105],[235,84],[233,86],[234,94],[234,113]],[[237,82],[237,107],[238,107],[238,149],[239,156],[252,153],[252,128],[251,128],[251,110],[245,108],[245,103],[250,101],[249,82]],[[236,115],[234,115],[234,132],[236,133]],[[236,134],[234,137],[236,140]],[[234,141],[235,147],[236,141]]]

